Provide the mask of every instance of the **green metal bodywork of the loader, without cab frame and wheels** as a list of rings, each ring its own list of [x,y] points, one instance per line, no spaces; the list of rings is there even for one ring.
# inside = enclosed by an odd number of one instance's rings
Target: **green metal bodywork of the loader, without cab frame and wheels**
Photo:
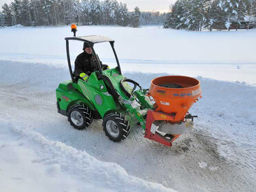
[[[113,96],[109,94],[105,82],[99,80],[96,72],[93,72],[87,81],[82,79],[78,79],[77,83],[65,81],[58,86],[56,98],[59,108],[67,113],[72,105],[84,103],[89,109],[98,111],[101,118],[111,111],[118,111],[125,116],[130,126],[140,123],[145,129],[147,110],[153,109],[153,103],[145,95],[147,90],[137,90],[134,92],[134,97],[128,98],[120,87],[120,81],[125,77],[119,74],[116,68],[104,70],[103,75],[110,79],[116,92],[122,98],[122,102],[114,100]],[[124,82],[123,85],[128,92],[131,92],[132,88],[128,83]]]

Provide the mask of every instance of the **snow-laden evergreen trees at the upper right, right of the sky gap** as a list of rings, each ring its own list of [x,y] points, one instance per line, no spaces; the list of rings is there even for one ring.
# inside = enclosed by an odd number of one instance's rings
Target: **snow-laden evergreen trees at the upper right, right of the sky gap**
[[[244,21],[255,27],[255,0],[178,0],[167,15],[164,28],[201,31],[203,28],[237,29]]]

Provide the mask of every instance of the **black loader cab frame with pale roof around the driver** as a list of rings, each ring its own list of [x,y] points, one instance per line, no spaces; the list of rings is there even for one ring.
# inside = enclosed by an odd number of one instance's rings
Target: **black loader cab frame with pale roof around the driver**
[[[114,56],[116,58],[116,63],[117,63],[117,70],[120,74],[122,74],[121,72],[121,67],[120,67],[120,63],[118,61],[118,56],[116,54],[116,50],[114,48],[114,43],[115,41],[113,39],[109,39],[108,37],[106,36],[100,36],[100,35],[91,35],[91,36],[77,36],[77,37],[66,37],[65,38],[65,41],[66,41],[66,50],[67,50],[67,64],[68,64],[68,67],[70,69],[70,76],[71,76],[71,79],[72,79],[72,82],[75,83],[75,76],[74,76],[74,73],[73,73],[73,70],[72,70],[72,66],[71,66],[71,62],[70,62],[70,44],[69,44],[69,41],[71,40],[75,40],[75,41],[83,41],[83,42],[86,42],[88,43],[88,45],[92,48],[92,53],[96,56],[96,52],[94,50],[94,44],[95,43],[105,43],[105,42],[109,42],[110,45],[111,45],[111,48],[114,52]],[[96,63],[98,65],[98,75],[101,75],[103,74],[103,71],[101,70],[101,67],[100,67],[100,61],[98,59],[98,57],[96,56]]]

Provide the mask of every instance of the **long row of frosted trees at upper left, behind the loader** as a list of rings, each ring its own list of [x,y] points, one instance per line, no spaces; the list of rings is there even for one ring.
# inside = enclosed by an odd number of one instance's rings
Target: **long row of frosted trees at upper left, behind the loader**
[[[138,27],[140,9],[128,12],[116,0],[14,0],[4,4],[0,25],[131,25]]]

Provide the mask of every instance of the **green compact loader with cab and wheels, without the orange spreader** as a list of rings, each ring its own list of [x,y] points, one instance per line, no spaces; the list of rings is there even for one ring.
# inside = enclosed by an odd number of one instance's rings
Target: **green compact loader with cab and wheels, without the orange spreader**
[[[69,41],[83,41],[94,50],[95,43],[109,42],[116,57],[117,67],[102,70],[96,57],[98,71],[93,72],[87,81],[76,78],[70,63]],[[61,83],[56,89],[57,108],[67,116],[75,129],[85,129],[93,119],[103,119],[103,130],[110,140],[125,139],[134,125],[145,128],[147,110],[153,103],[138,83],[122,76],[114,41],[105,36],[80,36],[65,38],[67,62],[72,81]],[[131,87],[131,84],[134,87]],[[136,88],[138,89],[136,90]]]

